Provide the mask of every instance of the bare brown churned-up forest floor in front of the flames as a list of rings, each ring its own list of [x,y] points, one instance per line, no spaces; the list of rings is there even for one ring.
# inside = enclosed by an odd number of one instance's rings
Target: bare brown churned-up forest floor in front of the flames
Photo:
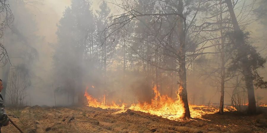
[[[267,107],[266,109],[267,110]],[[6,109],[25,133],[267,133],[267,113],[254,116],[225,112],[206,114],[200,119],[173,121],[140,111],[115,113],[93,107],[26,107],[21,110]],[[3,133],[19,132],[11,123],[2,127]]]

